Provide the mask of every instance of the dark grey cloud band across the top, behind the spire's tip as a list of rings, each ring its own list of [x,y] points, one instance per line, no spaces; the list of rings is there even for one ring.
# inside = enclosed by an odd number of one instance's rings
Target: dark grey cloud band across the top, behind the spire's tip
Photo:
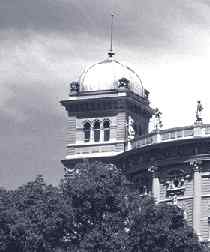
[[[115,12],[116,40],[148,47],[161,40],[166,46],[175,42],[175,34],[181,36],[182,25],[207,25],[204,9],[209,10],[207,2],[189,0],[7,0],[0,5],[0,27],[24,36],[55,33],[74,40],[77,34],[88,33],[107,39],[110,13]]]

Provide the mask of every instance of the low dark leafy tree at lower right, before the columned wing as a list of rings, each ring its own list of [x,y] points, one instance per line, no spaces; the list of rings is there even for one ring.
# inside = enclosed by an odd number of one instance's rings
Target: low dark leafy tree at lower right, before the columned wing
[[[183,210],[144,199],[129,232],[130,252],[206,251],[188,226]]]

